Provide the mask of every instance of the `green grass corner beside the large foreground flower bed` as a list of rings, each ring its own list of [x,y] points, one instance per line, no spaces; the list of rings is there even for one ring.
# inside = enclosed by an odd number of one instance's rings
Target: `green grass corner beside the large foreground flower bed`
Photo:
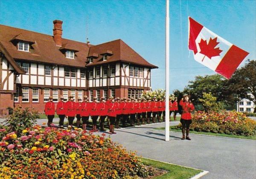
[[[202,172],[202,170],[181,167],[179,165],[158,162],[155,160],[145,159],[142,157],[140,157],[140,159],[142,160],[144,165],[168,171],[168,173],[162,176],[154,177],[154,179],[190,179],[191,177]]]

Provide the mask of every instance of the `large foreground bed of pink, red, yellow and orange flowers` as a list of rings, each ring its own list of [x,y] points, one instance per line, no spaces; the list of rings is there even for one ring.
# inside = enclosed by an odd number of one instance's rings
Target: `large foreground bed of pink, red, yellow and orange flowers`
[[[2,135],[2,136],[1,136]],[[135,178],[154,175],[135,153],[110,138],[80,129],[42,129],[36,125],[16,133],[0,131],[0,178]]]

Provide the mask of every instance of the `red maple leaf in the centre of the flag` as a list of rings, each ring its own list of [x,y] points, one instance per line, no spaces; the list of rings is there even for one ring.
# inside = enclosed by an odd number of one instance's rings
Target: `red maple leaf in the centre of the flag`
[[[201,42],[198,43],[200,46],[200,49],[201,49],[200,53],[204,54],[209,59],[211,59],[212,57],[215,57],[215,56],[219,56],[220,53],[222,52],[222,50],[219,47],[215,48],[215,46],[217,46],[218,43],[219,42],[217,42],[217,37],[214,39],[210,38],[208,44],[207,44],[207,40],[201,39]],[[204,61],[204,58],[202,61]]]

